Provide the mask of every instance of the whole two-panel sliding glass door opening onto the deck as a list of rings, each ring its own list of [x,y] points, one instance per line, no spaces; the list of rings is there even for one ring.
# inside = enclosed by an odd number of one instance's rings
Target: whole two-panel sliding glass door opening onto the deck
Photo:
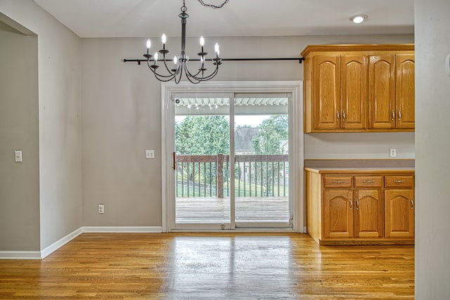
[[[172,124],[163,137],[172,145],[169,230],[293,228],[292,98],[278,91],[170,94]]]

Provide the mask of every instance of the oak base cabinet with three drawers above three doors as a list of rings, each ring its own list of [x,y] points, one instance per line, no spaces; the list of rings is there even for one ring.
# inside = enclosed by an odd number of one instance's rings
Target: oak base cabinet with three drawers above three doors
[[[413,244],[413,171],[306,171],[307,232],[319,244]]]

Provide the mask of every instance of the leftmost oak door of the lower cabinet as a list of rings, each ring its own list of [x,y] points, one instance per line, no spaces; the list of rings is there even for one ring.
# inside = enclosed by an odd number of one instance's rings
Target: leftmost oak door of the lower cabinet
[[[323,190],[323,237],[353,237],[352,190]]]

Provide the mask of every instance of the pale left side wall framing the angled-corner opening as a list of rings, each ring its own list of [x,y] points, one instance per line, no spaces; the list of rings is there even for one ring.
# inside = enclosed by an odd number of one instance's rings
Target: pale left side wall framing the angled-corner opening
[[[32,0],[0,0],[0,13],[38,36],[40,249],[45,249],[82,226],[81,41]]]

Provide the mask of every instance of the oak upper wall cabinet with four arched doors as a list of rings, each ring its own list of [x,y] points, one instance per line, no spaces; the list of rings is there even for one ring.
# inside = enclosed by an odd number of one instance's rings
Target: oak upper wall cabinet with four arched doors
[[[307,46],[304,131],[414,130],[414,46]]]

